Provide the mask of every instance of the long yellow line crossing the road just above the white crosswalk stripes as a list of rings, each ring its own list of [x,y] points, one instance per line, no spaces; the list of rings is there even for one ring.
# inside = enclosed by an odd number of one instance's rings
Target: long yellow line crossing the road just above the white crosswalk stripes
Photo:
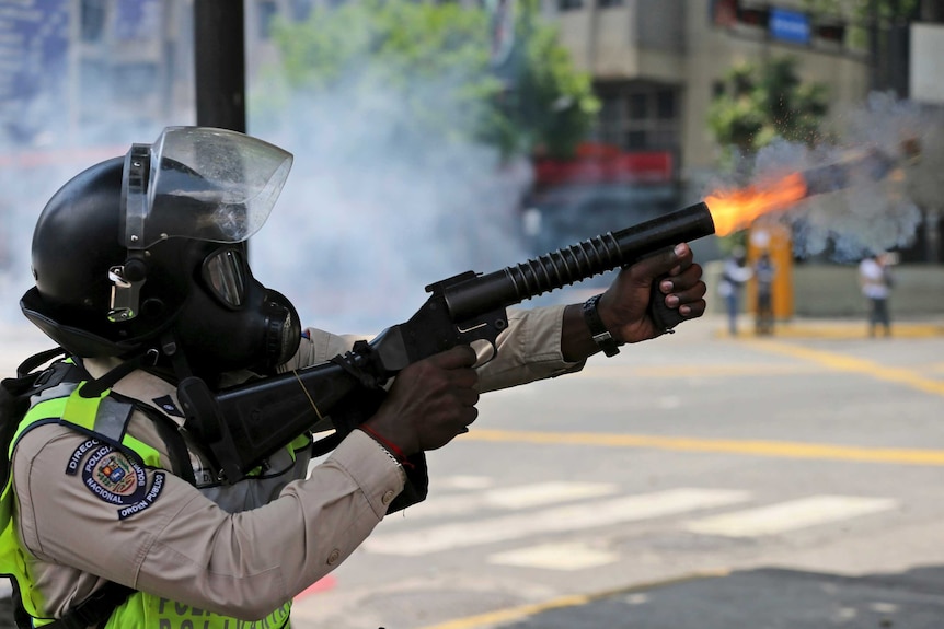
[[[716,452],[780,458],[891,463],[898,465],[944,465],[944,450],[861,447],[790,441],[699,439],[690,436],[591,432],[533,432],[525,430],[480,429],[474,426],[470,432],[463,434],[460,439],[554,445],[648,447],[654,450]]]

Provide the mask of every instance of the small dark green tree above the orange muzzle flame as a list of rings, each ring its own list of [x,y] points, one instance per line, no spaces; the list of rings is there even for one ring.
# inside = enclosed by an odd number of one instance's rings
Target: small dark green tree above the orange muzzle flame
[[[725,150],[750,155],[782,138],[813,145],[824,138],[827,88],[803,83],[792,57],[732,68],[709,107],[709,128]],[[728,155],[730,156],[730,155]]]

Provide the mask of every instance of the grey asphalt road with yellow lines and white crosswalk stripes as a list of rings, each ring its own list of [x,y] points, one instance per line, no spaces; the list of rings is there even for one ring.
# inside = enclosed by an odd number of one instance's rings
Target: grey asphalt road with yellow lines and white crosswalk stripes
[[[293,629],[944,626],[944,326],[722,329],[484,396]]]

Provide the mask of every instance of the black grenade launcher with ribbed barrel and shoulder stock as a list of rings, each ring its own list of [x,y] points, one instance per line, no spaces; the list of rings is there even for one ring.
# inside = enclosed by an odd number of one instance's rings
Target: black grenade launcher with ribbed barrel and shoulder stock
[[[507,306],[713,233],[707,206],[697,203],[492,273],[438,281],[426,287],[431,294],[410,321],[330,361],[219,392],[185,378],[177,395],[187,429],[210,449],[227,482],[235,482],[306,431],[333,428],[339,442],[372,415],[370,405],[379,403],[369,400],[408,364],[457,345],[485,341],[494,351],[508,326]],[[365,408],[352,419],[358,406]]]

